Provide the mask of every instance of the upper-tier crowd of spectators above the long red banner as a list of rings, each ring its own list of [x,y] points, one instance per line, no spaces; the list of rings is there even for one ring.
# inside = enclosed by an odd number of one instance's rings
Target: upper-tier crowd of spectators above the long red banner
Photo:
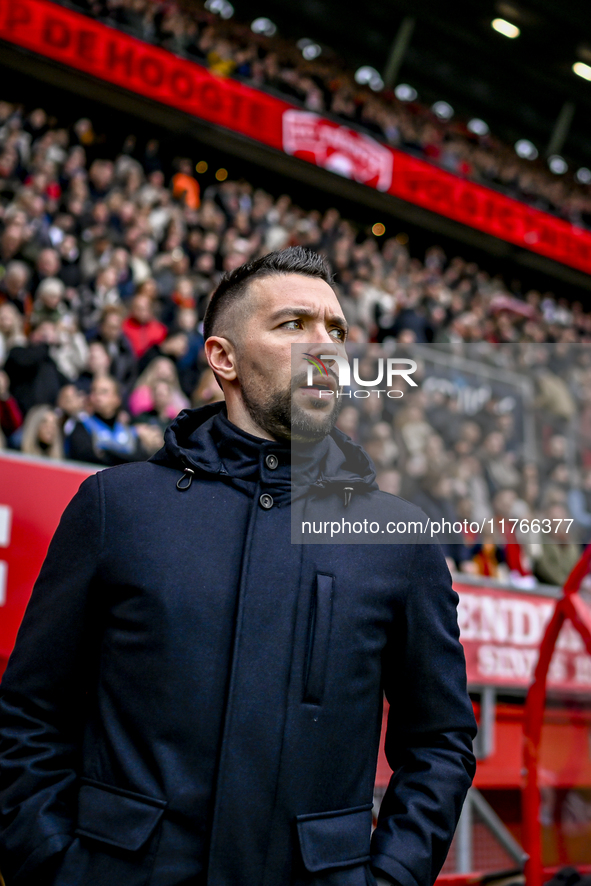
[[[281,36],[254,34],[235,18],[224,20],[197,0],[66,0],[68,5],[206,65],[276,91],[319,114],[365,130],[393,147],[424,157],[456,175],[502,190],[578,226],[591,227],[591,192],[571,175],[552,173],[542,159],[520,158],[490,132],[477,135],[466,121],[441,120],[418,101],[399,101],[392,90],[355,82],[333,52],[306,60]]]

